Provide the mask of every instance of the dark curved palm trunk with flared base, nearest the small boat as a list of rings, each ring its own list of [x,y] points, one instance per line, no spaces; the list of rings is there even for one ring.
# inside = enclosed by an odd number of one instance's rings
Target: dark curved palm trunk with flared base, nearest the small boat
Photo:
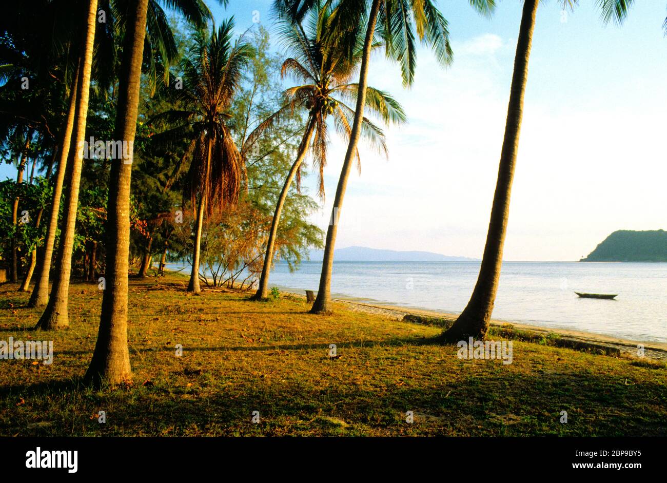
[[[486,246],[482,257],[482,266],[477,284],[468,306],[454,322],[454,325],[442,335],[444,342],[456,342],[468,337],[484,338],[494,310],[498,280],[502,266],[502,252],[510,216],[510,194],[519,147],[519,134],[524,111],[524,93],[528,79],[528,59],[535,27],[535,16],[539,0],[525,0],[521,17],[519,39],[514,58],[514,74],[510,90],[505,137],[500,154],[498,182],[491,209],[491,221],[486,235]]]

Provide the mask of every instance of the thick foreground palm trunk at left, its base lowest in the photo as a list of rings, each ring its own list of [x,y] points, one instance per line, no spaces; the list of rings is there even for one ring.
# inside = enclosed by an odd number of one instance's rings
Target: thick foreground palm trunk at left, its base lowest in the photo
[[[116,385],[132,377],[127,348],[127,270],[129,269],[129,191],[133,143],[137,131],[141,60],[146,35],[148,0],[132,2],[133,17],[127,22],[123,61],[119,75],[115,137],[127,141],[129,158],[111,163],[109,215],[107,217],[106,290],[102,296],[99,332],[93,359],[85,374],[92,384]],[[133,21],[132,21],[133,19]]]

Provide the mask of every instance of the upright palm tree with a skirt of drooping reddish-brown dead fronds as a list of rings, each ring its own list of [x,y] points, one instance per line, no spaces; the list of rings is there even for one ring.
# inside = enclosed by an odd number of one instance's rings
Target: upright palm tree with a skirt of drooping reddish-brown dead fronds
[[[177,108],[152,120],[157,127],[167,123],[172,126],[155,135],[155,142],[185,136],[190,139],[172,180],[189,162],[183,196],[191,199],[195,211],[195,235],[187,291],[195,294],[201,292],[199,253],[205,215],[235,205],[245,177],[245,157],[237,149],[227,121],[241,73],[255,49],[242,38],[232,42],[233,29],[232,17],[211,34],[195,32],[195,47],[181,61],[183,88],[170,89]]]

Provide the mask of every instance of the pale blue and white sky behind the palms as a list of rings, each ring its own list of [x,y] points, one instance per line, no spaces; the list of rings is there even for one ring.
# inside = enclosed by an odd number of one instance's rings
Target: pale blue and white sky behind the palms
[[[269,0],[207,0],[217,22],[239,31]],[[501,0],[492,19],[464,0],[440,0],[454,64],[420,48],[416,81],[402,87],[382,54],[370,85],[390,91],[408,123],[386,129],[388,160],[362,148],[337,246],[428,250],[480,258],[496,185],[522,2]],[[667,229],[665,0],[642,0],[622,27],[604,26],[594,2],[538,11],[512,191],[506,260],[578,260],[616,229]],[[313,221],[325,229],[345,145],[332,135],[327,198]],[[3,166],[0,176],[11,175]],[[305,182],[313,188],[315,180]]]

